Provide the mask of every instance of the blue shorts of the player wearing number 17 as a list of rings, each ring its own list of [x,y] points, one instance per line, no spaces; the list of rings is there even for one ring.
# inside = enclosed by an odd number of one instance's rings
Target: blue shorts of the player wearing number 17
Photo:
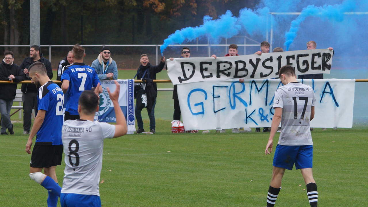
[[[294,163],[295,169],[312,168],[313,165],[313,145],[299,146],[276,146],[273,166],[292,170]]]

